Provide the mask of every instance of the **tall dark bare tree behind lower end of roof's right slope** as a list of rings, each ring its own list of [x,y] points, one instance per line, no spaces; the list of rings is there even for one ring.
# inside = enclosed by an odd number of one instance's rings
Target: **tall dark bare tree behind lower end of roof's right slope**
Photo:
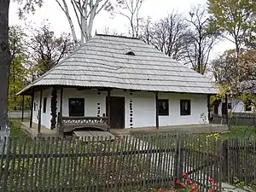
[[[195,71],[204,74],[207,70],[210,52],[218,39],[218,31],[210,26],[207,9],[204,6],[199,5],[191,9],[189,16],[187,58]]]

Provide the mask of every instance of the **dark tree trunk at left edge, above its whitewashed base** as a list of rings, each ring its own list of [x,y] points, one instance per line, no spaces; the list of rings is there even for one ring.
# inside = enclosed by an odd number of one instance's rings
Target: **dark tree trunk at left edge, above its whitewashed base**
[[[9,0],[0,0],[0,129],[6,122],[9,83]]]

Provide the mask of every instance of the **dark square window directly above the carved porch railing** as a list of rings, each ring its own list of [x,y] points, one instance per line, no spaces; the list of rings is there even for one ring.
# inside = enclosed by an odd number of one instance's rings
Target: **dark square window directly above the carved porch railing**
[[[84,98],[69,98],[69,116],[84,116]]]

